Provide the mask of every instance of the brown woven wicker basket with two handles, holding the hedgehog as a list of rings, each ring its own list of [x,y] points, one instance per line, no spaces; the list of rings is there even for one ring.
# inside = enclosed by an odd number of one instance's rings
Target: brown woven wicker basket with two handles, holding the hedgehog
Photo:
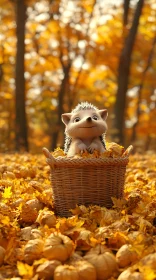
[[[71,216],[76,205],[96,204],[110,208],[111,197],[122,198],[126,165],[132,149],[121,158],[54,158],[43,148],[51,169],[56,214]]]

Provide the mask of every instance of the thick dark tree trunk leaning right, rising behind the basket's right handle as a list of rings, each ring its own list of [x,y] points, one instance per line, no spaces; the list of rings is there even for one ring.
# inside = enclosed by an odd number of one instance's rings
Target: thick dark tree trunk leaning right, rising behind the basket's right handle
[[[118,69],[118,89],[116,95],[116,103],[114,106],[114,131],[113,139],[120,144],[124,144],[124,119],[125,119],[125,107],[126,107],[126,92],[128,89],[131,56],[133,46],[139,26],[139,19],[142,12],[144,0],[139,0],[136,11],[134,14],[133,23],[129,34],[125,40],[124,47],[121,51]]]

